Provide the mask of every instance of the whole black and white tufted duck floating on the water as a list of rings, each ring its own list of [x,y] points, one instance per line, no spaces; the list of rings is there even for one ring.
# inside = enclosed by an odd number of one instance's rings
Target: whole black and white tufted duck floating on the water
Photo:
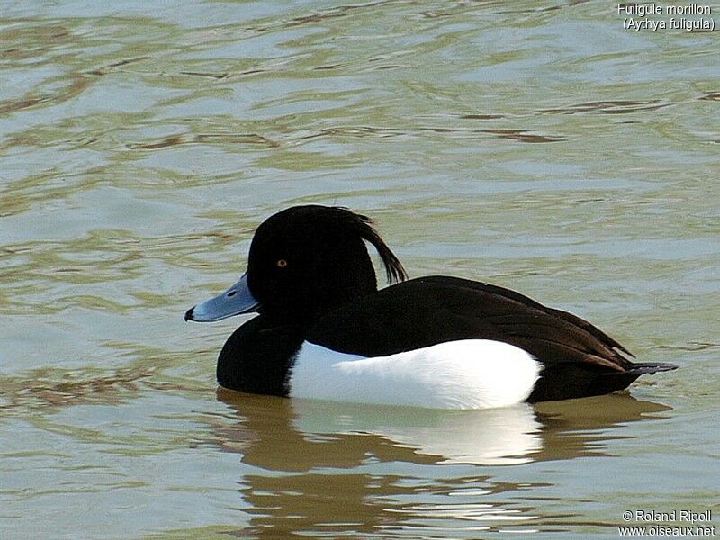
[[[378,291],[365,242],[396,284]],[[238,283],[184,318],[257,311],[222,347],[218,382],[279,396],[487,409],[614,392],[677,367],[635,364],[586,320],[496,285],[406,278],[369,218],[295,206],[257,228]]]

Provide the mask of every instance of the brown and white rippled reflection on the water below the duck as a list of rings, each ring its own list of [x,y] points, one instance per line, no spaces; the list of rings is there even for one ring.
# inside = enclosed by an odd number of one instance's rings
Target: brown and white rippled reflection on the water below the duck
[[[264,470],[239,480],[257,537],[537,530],[528,491],[546,482],[499,482],[497,466],[608,455],[618,425],[671,410],[628,393],[468,411],[218,398],[238,421],[213,442]]]

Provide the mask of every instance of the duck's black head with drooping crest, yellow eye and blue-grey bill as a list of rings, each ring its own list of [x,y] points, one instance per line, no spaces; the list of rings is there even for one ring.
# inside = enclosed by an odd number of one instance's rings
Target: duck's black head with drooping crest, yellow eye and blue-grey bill
[[[405,279],[401,262],[369,218],[320,205],[280,211],[257,228],[240,281],[187,311],[185,319],[220,320],[258,311],[278,322],[309,323],[377,290],[365,241],[377,249],[389,281]]]

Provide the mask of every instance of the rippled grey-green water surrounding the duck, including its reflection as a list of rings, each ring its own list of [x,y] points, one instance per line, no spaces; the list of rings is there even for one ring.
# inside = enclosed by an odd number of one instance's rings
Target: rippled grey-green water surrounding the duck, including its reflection
[[[720,515],[718,34],[626,32],[614,5],[4,2],[2,537]],[[509,286],[681,369],[489,411],[216,393],[242,320],[184,310],[301,202],[374,216],[411,275]]]

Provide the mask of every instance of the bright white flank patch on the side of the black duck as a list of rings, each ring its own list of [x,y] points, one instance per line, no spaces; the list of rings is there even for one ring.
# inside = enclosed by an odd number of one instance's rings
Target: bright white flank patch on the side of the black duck
[[[434,409],[491,409],[526,400],[540,368],[523,349],[488,339],[449,341],[373,358],[306,341],[295,358],[290,395]]]

